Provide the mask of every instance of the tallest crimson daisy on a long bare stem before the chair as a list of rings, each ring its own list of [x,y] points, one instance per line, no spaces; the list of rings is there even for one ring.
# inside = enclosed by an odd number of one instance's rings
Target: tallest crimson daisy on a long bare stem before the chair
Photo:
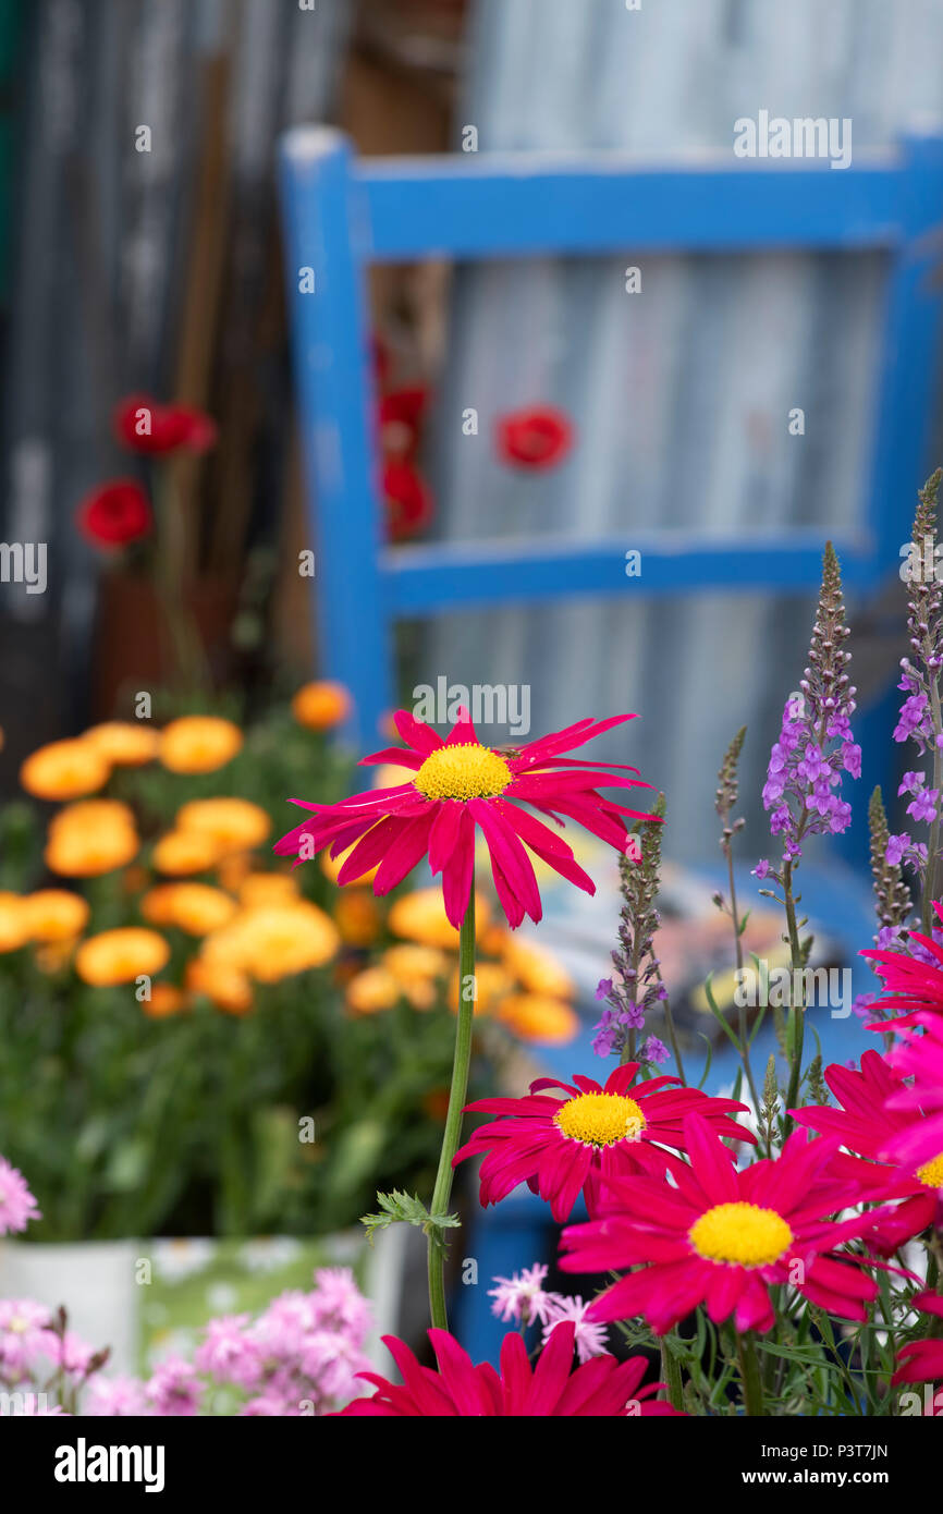
[[[313,813],[275,843],[275,852],[306,861],[324,846],[330,846],[331,857],[353,846],[338,874],[338,883],[344,886],[377,868],[374,893],[378,895],[395,889],[422,857],[428,857],[433,874],[442,874],[445,913],[457,928],[468,907],[475,830],[480,828],[487,843],[495,889],[510,925],[519,925],[525,914],[539,921],[540,893],[527,848],[586,893],[595,893],[595,884],[577,864],[566,842],[521,808],[519,801],[557,824],[562,824],[562,816],[577,821],[624,852],[628,830],[622,816],[648,816],[604,799],[596,792],[596,784],[634,787],[642,780],[621,777],[608,769],[631,774],[637,769],[627,768],[625,763],[568,759],[560,752],[572,751],[630,719],[634,716],[578,721],[565,731],[542,736],[512,752],[483,746],[465,709],[459,710],[459,719],[447,740],[431,725],[413,719],[407,710],[398,710],[394,722],[406,746],[362,757],[360,766],[394,763],[412,768],[415,778],[354,793],[339,804],[292,799],[292,804]],[[651,784],[642,787],[649,789]]]

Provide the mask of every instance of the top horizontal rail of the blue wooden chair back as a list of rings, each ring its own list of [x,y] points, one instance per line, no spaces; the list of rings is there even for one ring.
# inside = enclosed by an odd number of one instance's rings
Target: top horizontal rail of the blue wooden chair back
[[[730,153],[692,167],[652,167],[615,153],[459,153],[381,159],[360,165],[356,177],[369,217],[368,250],[380,262],[889,247],[905,220],[905,177],[895,153],[845,170],[808,159],[731,167]]]

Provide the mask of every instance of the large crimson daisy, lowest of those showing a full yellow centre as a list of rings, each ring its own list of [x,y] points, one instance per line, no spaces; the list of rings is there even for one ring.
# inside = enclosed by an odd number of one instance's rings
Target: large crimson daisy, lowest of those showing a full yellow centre
[[[666,1181],[615,1178],[605,1214],[571,1225],[562,1245],[565,1272],[625,1272],[593,1299],[593,1320],[645,1316],[663,1335],[699,1304],[714,1323],[731,1314],[739,1331],[767,1331],[775,1320],[769,1288],[793,1284],[829,1314],[864,1320],[864,1302],[878,1285],[861,1276],[857,1258],[834,1248],[864,1234],[875,1211],[836,1222],[860,1196],[855,1182],[828,1173],[834,1142],[796,1131],[776,1161],[737,1172],[705,1120],[684,1119],[690,1167],[677,1164],[677,1188]]]

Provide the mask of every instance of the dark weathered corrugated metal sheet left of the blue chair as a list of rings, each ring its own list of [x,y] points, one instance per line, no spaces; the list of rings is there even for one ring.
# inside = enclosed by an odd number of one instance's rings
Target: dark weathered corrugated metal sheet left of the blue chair
[[[5,586],[0,693],[9,716],[0,724],[15,715],[29,746],[61,733],[70,699],[82,698],[97,563],[71,522],[88,489],[127,471],[110,438],[112,406],[127,392],[174,392],[201,209],[224,218],[230,239],[224,351],[213,360],[224,374],[259,360],[275,136],[324,118],[350,12],[342,0],[318,0],[313,11],[295,0],[36,0],[26,18],[0,536],[53,545],[45,595]],[[227,203],[204,207],[194,191],[210,59],[229,80],[230,180]],[[138,126],[150,127],[150,151],[135,151]],[[266,383],[285,453],[285,365]],[[36,663],[48,719],[36,712]]]

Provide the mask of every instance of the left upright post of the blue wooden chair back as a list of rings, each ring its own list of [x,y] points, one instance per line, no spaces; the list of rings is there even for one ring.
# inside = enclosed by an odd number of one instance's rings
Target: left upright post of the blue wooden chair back
[[[280,186],[321,660],[354,696],[345,734],[362,745],[375,742],[377,722],[392,704],[392,674],[350,160],[339,132],[310,127],[283,138]],[[304,269],[313,274],[313,292],[304,292]]]

